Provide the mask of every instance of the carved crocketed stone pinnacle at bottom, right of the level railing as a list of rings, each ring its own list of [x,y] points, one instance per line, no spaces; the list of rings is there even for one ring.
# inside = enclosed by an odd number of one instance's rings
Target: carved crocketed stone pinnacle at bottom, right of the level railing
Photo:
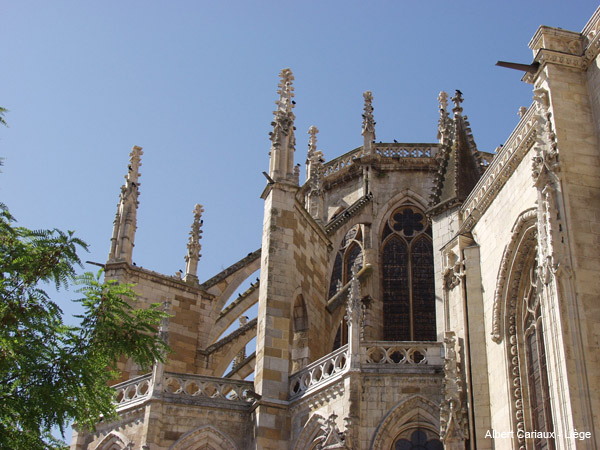
[[[449,446],[467,439],[469,424],[463,401],[463,381],[458,368],[456,339],[453,331],[446,332],[444,344],[446,357],[442,390],[444,397],[440,406],[440,438],[446,446]]]

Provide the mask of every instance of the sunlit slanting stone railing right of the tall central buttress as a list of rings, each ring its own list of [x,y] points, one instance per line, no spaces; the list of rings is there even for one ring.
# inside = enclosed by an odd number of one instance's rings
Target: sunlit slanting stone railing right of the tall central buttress
[[[293,374],[290,378],[290,400],[339,380],[350,367],[348,359],[346,344]]]

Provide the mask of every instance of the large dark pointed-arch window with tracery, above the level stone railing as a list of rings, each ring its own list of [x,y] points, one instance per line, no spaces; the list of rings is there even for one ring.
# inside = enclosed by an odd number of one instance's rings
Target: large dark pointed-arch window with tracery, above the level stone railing
[[[436,340],[433,245],[423,211],[405,205],[392,212],[380,255],[384,339]]]

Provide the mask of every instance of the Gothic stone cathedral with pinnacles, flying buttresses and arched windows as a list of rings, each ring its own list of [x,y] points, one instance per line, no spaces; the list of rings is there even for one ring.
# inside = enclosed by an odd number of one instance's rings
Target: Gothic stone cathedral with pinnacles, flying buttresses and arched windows
[[[460,91],[437,142],[377,143],[366,92],[363,145],[325,161],[311,127],[302,185],[283,70],[262,244],[206,281],[200,205],[185,273],[132,263],[134,147],[106,276],[164,304],[173,353],[123,361],[119,419],[71,448],[599,448],[600,9],[529,46],[534,102],[495,152]]]

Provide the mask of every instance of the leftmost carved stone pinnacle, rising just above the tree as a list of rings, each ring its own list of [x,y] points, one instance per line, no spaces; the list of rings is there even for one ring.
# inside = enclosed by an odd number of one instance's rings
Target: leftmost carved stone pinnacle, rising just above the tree
[[[142,147],[135,145],[129,154],[129,166],[125,175],[125,184],[121,186],[121,195],[117,205],[117,214],[113,226],[108,262],[132,262],[135,230],[137,229],[137,207]]]

